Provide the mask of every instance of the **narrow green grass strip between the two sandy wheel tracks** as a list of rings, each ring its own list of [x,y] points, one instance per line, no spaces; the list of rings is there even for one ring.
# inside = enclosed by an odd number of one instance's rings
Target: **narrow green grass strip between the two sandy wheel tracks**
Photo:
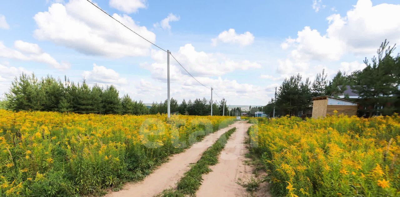
[[[236,131],[232,128],[221,137],[206,151],[202,157],[187,171],[177,184],[177,189],[164,190],[159,197],[184,197],[194,196],[202,183],[202,175],[211,172],[210,166],[218,163],[218,155],[224,149],[230,135]]]

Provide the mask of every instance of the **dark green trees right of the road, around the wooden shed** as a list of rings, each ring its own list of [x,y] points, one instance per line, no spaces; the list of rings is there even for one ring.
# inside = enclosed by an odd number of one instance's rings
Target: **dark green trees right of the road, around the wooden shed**
[[[276,100],[272,98],[263,111],[272,116],[275,105],[276,115],[299,116],[310,110],[313,97],[344,95],[345,99],[363,106],[359,110],[361,116],[399,113],[400,55],[392,56],[395,46],[389,46],[385,40],[371,62],[365,58],[366,67],[363,70],[350,74],[338,71],[331,80],[328,80],[324,70],[316,75],[314,82],[303,79],[300,74],[286,78],[277,91]],[[351,87],[360,98],[349,98],[348,94],[344,94],[346,87]]]

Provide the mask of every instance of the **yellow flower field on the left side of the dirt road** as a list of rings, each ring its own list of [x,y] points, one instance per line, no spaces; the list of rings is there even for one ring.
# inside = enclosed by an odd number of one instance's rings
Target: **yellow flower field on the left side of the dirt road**
[[[140,180],[233,121],[0,110],[0,197],[86,195]]]

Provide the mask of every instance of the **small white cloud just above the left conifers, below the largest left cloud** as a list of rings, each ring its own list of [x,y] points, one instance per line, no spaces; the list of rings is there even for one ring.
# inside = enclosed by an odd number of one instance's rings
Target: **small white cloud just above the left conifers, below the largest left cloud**
[[[97,66],[93,64],[93,69],[91,71],[84,71],[84,78],[88,80],[88,82],[105,84],[105,85],[126,85],[128,84],[128,80],[126,78],[121,78],[120,74],[115,70],[110,68],[106,68],[104,66]]]

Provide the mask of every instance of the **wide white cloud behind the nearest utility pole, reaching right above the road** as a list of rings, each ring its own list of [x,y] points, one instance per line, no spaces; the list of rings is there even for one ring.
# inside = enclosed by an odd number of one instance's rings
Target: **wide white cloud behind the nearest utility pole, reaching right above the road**
[[[226,92],[230,91],[254,91],[263,90],[270,87],[275,87],[277,84],[253,85],[239,83],[236,80],[222,78],[221,76],[232,71],[257,69],[261,65],[257,62],[248,60],[231,60],[223,54],[206,53],[196,51],[192,44],[186,44],[177,52],[172,54],[178,61],[192,74],[198,81],[207,87],[213,87],[217,96],[214,99],[229,98],[230,103],[242,103],[243,100],[252,103],[264,103],[268,100],[268,96],[273,96],[273,93],[260,92],[260,94],[243,93],[243,92]],[[154,62],[141,64],[141,67],[151,72],[151,78],[143,80],[135,85],[138,90],[138,95],[142,98],[147,98],[149,91],[153,91],[152,95],[156,98],[166,98],[166,79],[167,79],[167,54],[161,50],[152,50],[151,58]],[[170,80],[171,80],[171,96],[175,99],[182,100],[183,98],[195,99],[205,96],[209,99],[210,90],[200,85],[190,75],[188,75],[172,57],[170,57]],[[158,89],[154,89],[158,87]],[[161,89],[160,89],[161,88]],[[160,93],[160,95],[158,94]],[[267,97],[267,98],[266,98]],[[151,100],[157,100],[150,98]],[[160,100],[158,100],[160,101]]]

